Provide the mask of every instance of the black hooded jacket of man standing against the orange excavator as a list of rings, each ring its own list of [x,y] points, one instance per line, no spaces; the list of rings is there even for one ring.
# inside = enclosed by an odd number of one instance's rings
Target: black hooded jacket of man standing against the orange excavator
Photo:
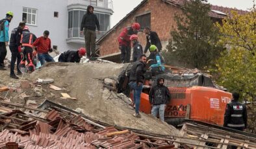
[[[149,102],[153,105],[168,104],[171,99],[170,90],[166,86],[160,86],[159,80],[157,79],[157,85],[153,86],[149,91]]]

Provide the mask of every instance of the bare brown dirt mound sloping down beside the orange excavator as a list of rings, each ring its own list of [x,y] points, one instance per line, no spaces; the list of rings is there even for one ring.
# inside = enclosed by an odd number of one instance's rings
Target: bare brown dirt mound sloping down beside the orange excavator
[[[49,63],[31,74],[31,78],[53,78],[53,85],[66,89],[77,100],[61,99],[63,91],[47,91],[54,95],[47,99],[71,109],[84,109],[84,114],[109,124],[146,130],[161,134],[178,134],[178,130],[151,115],[142,114],[141,119],[132,116],[134,109],[103,87],[103,78],[118,78],[127,67],[114,63]],[[57,93],[58,92],[58,93]],[[42,98],[40,99],[42,102]]]

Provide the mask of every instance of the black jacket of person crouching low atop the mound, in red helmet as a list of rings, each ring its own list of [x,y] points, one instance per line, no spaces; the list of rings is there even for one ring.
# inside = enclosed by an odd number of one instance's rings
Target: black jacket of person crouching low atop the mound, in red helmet
[[[58,57],[58,62],[76,62],[79,63],[81,58],[79,58],[79,54],[77,50],[68,50],[65,52],[62,52],[60,56]]]

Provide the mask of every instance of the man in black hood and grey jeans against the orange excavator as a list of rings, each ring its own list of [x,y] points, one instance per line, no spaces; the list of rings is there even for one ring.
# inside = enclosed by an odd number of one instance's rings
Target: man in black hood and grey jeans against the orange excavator
[[[157,85],[149,91],[149,102],[151,104],[151,115],[157,117],[159,113],[160,120],[164,121],[164,110],[166,104],[170,102],[171,94],[168,87],[164,86],[164,78],[157,79]]]

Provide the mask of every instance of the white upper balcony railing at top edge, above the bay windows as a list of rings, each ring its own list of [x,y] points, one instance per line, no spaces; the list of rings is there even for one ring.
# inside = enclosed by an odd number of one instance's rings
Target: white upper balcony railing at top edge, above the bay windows
[[[103,8],[109,8],[113,10],[113,2],[112,0],[108,0],[108,3],[98,3],[97,0],[68,0],[68,6],[73,4],[79,5],[92,5],[92,6],[99,6]]]

